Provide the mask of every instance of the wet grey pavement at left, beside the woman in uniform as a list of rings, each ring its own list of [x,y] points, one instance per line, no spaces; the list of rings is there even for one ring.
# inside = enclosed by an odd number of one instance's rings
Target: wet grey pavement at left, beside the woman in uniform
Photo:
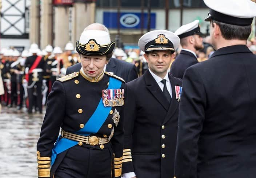
[[[44,114],[2,107],[0,113],[0,178],[37,177],[36,143]]]

